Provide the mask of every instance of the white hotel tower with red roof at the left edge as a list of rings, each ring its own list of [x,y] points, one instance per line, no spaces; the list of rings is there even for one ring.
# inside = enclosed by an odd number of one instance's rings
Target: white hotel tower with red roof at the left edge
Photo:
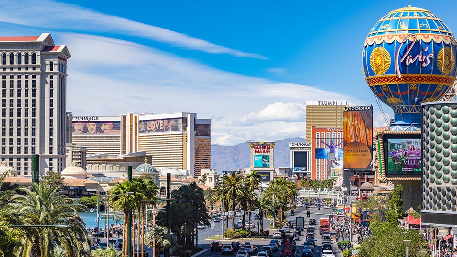
[[[0,156],[18,175],[31,175],[32,154],[40,155],[40,176],[65,168],[70,57],[49,33],[0,37]]]

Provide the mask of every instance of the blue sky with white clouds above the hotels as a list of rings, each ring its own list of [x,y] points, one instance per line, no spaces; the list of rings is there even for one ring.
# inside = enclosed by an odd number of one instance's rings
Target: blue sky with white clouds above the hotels
[[[0,0],[0,33],[68,46],[74,116],[196,112],[212,119],[213,144],[235,145],[304,138],[306,100],[373,104],[384,125],[362,45],[409,4],[457,31],[456,0]]]

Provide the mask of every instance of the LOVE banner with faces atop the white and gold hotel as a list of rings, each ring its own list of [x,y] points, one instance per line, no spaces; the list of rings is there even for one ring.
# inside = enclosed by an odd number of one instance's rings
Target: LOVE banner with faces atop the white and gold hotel
[[[139,133],[186,131],[187,118],[168,118],[142,120],[139,122]]]

